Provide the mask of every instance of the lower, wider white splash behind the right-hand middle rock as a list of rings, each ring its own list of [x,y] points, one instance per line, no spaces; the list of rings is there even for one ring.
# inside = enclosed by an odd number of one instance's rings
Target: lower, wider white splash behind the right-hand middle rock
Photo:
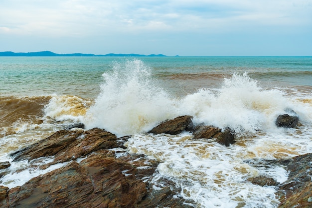
[[[259,87],[245,72],[225,78],[220,89],[200,89],[187,95],[180,109],[194,116],[195,123],[230,127],[239,134],[275,129],[275,118],[290,108],[288,103],[282,91]]]

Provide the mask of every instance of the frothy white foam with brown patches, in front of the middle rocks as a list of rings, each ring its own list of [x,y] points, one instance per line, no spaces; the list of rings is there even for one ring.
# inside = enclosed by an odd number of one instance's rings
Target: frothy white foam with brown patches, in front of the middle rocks
[[[180,195],[195,201],[200,208],[277,207],[274,187],[247,183],[262,170],[241,159],[240,146],[227,148],[206,140],[191,140],[191,135],[135,135],[126,143],[132,153],[146,154],[160,161],[158,176],[174,180]],[[278,168],[266,173],[284,172]],[[282,177],[281,176],[281,177]],[[154,180],[156,182],[157,180]]]

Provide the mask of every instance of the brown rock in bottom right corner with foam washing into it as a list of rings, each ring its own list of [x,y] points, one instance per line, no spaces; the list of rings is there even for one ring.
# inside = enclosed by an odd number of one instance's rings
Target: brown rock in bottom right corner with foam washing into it
[[[276,197],[281,202],[279,208],[312,208],[312,153],[300,155],[288,160],[247,160],[245,162],[257,168],[282,166],[288,173],[288,179],[279,184],[265,176],[249,178],[247,181],[259,186],[276,186]]]

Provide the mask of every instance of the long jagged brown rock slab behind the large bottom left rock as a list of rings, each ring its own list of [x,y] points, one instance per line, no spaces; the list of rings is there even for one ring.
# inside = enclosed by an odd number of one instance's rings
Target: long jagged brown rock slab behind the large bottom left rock
[[[17,151],[11,156],[13,161],[32,160],[40,157],[55,156],[54,163],[67,162],[100,150],[120,147],[116,135],[103,129],[88,131],[60,130],[50,137]]]

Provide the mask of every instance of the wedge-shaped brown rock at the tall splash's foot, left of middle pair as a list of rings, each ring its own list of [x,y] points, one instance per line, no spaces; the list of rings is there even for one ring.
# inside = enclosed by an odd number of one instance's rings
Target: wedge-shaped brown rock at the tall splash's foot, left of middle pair
[[[149,133],[176,135],[182,131],[192,131],[192,116],[179,116],[169,121],[162,122],[154,127]]]

